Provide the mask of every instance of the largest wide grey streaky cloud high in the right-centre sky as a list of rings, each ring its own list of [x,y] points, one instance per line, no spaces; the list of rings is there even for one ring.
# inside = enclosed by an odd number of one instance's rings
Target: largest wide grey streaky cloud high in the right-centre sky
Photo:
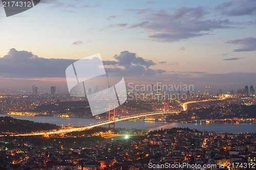
[[[173,11],[160,10],[154,13],[154,11],[148,9],[143,9],[140,12],[137,10],[135,13],[142,16],[140,22],[133,24],[120,23],[112,25],[112,27],[143,29],[148,34],[147,37],[155,41],[175,42],[209,35],[209,31],[216,29],[243,29],[245,25],[253,24],[250,21],[233,22],[229,19],[202,20],[203,16],[207,14],[207,11],[202,7],[182,7]]]

